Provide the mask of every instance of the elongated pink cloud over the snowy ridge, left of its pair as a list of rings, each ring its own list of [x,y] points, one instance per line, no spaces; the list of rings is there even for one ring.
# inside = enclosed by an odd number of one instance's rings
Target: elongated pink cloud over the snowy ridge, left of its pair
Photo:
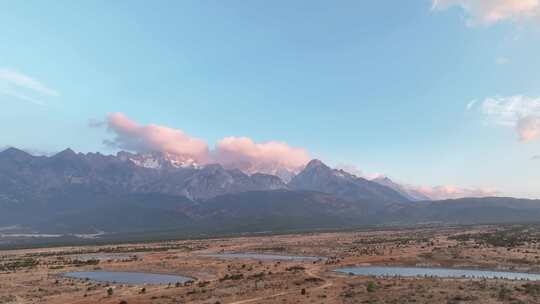
[[[122,113],[110,113],[107,128],[116,136],[106,144],[136,152],[164,152],[205,162],[208,145],[205,141],[190,137],[182,130],[149,124],[141,126]]]

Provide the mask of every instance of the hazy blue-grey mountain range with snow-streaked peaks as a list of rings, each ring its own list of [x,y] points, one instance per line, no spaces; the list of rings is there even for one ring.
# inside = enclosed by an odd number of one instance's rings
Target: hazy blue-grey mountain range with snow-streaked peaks
[[[162,153],[0,152],[0,228],[39,233],[257,232],[538,219],[537,200],[430,201],[388,178],[367,180],[320,160],[284,182]]]

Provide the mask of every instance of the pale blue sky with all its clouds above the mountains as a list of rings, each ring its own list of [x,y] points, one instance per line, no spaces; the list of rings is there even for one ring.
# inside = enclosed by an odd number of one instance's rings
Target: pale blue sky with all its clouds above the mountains
[[[540,0],[0,5],[0,147],[540,198]]]

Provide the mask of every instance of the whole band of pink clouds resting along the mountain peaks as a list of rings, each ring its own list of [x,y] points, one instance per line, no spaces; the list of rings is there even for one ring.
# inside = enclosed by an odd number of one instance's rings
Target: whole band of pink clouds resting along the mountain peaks
[[[225,137],[216,143],[215,149],[210,150],[204,140],[189,136],[182,130],[155,124],[140,125],[123,113],[110,113],[106,126],[114,138],[104,142],[114,148],[139,153],[163,152],[200,164],[219,163],[248,173],[297,172],[310,160],[302,148],[278,141],[255,143],[248,137]]]

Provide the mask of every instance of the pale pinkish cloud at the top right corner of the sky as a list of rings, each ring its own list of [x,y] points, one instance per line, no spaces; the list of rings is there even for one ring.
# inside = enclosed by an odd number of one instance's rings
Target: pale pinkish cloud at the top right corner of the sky
[[[432,10],[461,8],[470,26],[540,20],[540,0],[432,0]]]

